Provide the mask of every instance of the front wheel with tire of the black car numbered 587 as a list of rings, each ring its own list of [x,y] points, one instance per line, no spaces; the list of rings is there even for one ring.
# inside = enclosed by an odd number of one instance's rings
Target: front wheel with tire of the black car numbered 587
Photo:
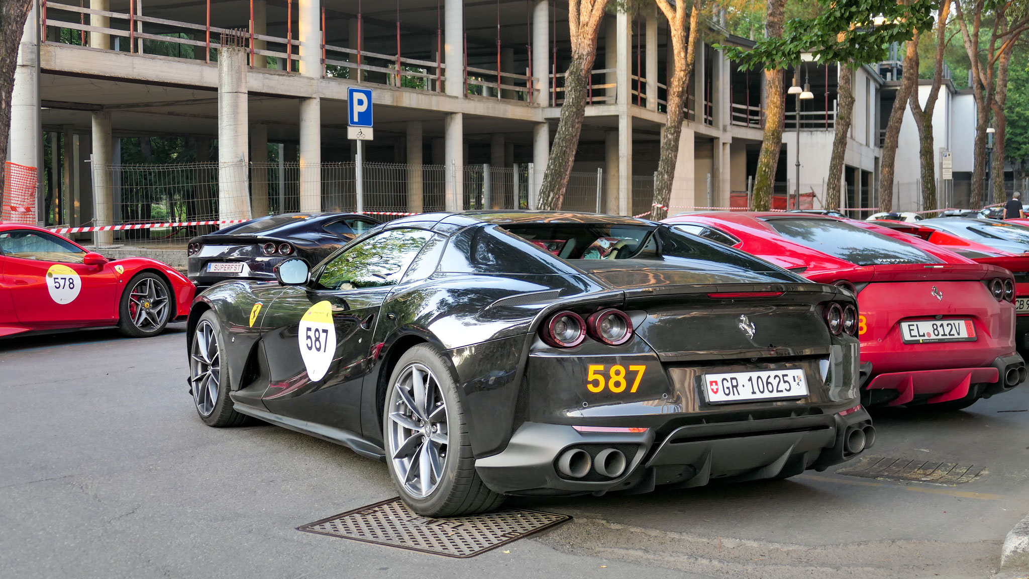
[[[228,398],[228,368],[221,365],[224,357],[218,315],[214,310],[204,312],[189,340],[189,394],[205,424],[242,427],[249,417],[237,412]]]

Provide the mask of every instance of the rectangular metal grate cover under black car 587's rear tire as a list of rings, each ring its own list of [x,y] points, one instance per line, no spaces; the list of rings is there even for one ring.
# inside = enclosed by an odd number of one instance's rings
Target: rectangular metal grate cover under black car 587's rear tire
[[[296,529],[437,555],[470,557],[569,518],[521,509],[429,518],[416,514],[400,499],[388,499]]]

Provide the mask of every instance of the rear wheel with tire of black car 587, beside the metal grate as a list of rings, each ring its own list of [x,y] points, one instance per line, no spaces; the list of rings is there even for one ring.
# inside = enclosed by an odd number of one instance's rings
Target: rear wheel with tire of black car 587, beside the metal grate
[[[421,395],[416,380],[423,386]],[[503,496],[487,487],[475,472],[457,380],[432,346],[414,346],[397,361],[386,388],[382,424],[390,478],[416,513],[470,515],[503,503]]]

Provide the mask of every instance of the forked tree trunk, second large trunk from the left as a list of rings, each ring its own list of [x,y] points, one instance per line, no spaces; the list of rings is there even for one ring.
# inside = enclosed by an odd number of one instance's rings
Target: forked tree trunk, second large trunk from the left
[[[682,121],[686,86],[694,69],[694,56],[697,47],[697,37],[700,29],[700,0],[694,1],[689,12],[689,38],[684,38],[686,31],[684,19],[669,19],[672,25],[672,50],[675,58],[675,73],[668,83],[668,114],[665,120],[665,130],[661,135],[661,157],[658,160],[658,175],[653,181],[653,203],[650,207],[650,218],[664,219],[668,216],[668,203],[672,196],[672,180],[675,178],[675,165],[679,158],[679,138],[682,135]],[[667,15],[667,12],[666,12]],[[674,22],[677,20],[678,22]]]

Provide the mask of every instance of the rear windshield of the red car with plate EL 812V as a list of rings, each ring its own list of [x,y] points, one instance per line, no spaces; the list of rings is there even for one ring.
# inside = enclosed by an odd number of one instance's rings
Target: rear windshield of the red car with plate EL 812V
[[[780,235],[859,266],[936,264],[931,254],[885,235],[836,219],[769,219]]]

